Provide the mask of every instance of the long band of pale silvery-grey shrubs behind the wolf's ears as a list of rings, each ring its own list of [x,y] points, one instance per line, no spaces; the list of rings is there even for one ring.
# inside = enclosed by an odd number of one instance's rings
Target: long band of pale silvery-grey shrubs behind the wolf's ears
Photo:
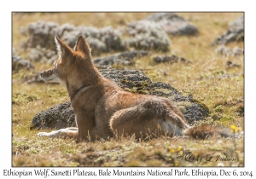
[[[112,26],[105,26],[98,29],[93,26],[70,24],[60,26],[58,23],[45,21],[32,22],[27,28],[22,26],[20,32],[28,36],[27,41],[21,43],[22,47],[28,50],[27,58],[31,61],[50,63],[53,61],[53,56],[55,57],[55,35],[70,47],[74,47],[80,34],[83,35],[93,49],[92,55],[124,51],[128,48],[166,52],[171,44],[166,32],[150,21],[129,23],[124,31],[125,38],[122,28],[113,29]]]

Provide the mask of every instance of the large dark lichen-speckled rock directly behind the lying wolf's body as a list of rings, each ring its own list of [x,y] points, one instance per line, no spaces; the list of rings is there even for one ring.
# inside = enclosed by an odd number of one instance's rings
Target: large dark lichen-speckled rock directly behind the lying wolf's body
[[[112,79],[125,90],[131,93],[159,95],[172,100],[180,108],[184,117],[191,124],[208,116],[208,108],[192,96],[182,95],[170,84],[153,83],[150,78],[138,70],[102,69],[102,75]],[[36,114],[32,118],[31,129],[57,128],[75,126],[71,103],[61,103],[55,107]]]

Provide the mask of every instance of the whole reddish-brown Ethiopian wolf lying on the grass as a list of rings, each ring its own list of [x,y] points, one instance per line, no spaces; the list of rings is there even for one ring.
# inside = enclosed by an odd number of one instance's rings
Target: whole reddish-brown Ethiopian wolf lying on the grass
[[[219,128],[202,125],[191,128],[183,113],[167,98],[139,95],[121,89],[104,78],[94,66],[90,47],[79,36],[74,49],[55,36],[59,57],[54,67],[41,72],[44,82],[66,86],[78,128],[40,132],[38,136],[70,137],[76,141],[124,136],[204,137]],[[221,132],[221,131],[220,131]]]

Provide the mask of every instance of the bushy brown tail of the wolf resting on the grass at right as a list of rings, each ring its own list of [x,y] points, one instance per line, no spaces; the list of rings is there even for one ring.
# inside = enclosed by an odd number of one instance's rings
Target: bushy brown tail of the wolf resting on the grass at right
[[[222,136],[222,137],[240,137],[243,132],[236,135],[228,128],[214,126],[210,124],[202,124],[200,126],[192,127],[186,130],[184,135],[195,139],[207,139],[210,136]]]

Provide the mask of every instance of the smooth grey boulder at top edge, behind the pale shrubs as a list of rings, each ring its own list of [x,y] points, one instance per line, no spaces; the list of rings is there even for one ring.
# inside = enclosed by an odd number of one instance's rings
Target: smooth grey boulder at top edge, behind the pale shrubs
[[[167,34],[173,36],[195,36],[199,34],[199,30],[194,25],[174,13],[156,13],[149,15],[144,20],[157,23]]]

